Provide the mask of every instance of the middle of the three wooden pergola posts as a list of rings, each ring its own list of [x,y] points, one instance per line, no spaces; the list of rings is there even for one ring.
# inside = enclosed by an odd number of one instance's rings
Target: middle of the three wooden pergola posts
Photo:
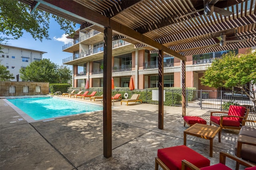
[[[158,53],[158,129],[164,129],[164,51]]]

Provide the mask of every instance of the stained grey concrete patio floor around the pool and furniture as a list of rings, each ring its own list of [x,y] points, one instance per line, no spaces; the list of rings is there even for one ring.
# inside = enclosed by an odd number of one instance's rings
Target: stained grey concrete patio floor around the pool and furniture
[[[62,97],[68,98],[68,97]],[[68,98],[70,99],[70,98]],[[90,102],[90,100],[79,101]],[[92,103],[101,104],[100,101]],[[102,111],[28,123],[0,99],[0,169],[1,170],[154,170],[157,150],[183,145],[181,107],[164,106],[164,130],[158,129],[158,105],[115,102],[112,108],[112,157],[103,156]],[[186,115],[207,120],[208,109],[187,108]],[[255,119],[250,114],[248,119]],[[219,152],[234,155],[236,130],[223,130],[213,142],[187,136],[187,146],[219,162]],[[226,164],[234,169],[235,162]],[[240,169],[244,169],[240,166]]]

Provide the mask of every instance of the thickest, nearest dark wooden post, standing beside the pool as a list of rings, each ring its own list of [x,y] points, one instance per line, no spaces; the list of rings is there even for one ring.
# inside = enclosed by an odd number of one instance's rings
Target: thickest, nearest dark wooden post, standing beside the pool
[[[112,156],[112,29],[104,29],[103,56],[103,156]]]

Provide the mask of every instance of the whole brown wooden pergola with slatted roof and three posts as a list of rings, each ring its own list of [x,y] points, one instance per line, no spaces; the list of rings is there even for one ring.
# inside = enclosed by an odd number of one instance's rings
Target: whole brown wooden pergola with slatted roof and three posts
[[[38,8],[81,24],[80,29],[91,27],[104,32],[103,154],[106,158],[112,156],[112,109],[111,101],[107,100],[111,98],[112,40],[123,39],[137,48],[159,54],[159,129],[164,128],[164,57],[181,60],[184,116],[185,56],[256,46],[256,0],[20,1],[30,5],[31,11]]]

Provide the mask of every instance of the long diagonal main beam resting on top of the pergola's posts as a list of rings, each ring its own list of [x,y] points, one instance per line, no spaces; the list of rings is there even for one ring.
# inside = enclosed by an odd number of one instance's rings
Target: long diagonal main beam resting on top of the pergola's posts
[[[133,29],[122,25],[112,19],[109,19],[106,16],[101,15],[98,12],[90,10],[77,2],[72,0],[65,0],[63,3],[62,0],[38,0],[38,2],[49,6],[50,8],[59,10],[68,15],[74,16],[76,18],[80,18],[82,20],[88,21],[100,27],[111,27],[112,30],[118,32],[120,35],[123,35],[127,38],[133,39],[134,41],[138,41],[140,43],[146,44],[149,47],[154,49],[162,49],[165,53],[176,57],[180,60],[186,61],[186,57],[176,53],[170,48],[154,41],[153,39],[134,31]],[[86,12],[85,12],[86,11]]]

